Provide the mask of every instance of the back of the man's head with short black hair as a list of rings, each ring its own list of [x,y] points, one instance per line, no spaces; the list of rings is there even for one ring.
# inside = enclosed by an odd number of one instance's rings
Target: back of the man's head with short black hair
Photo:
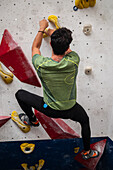
[[[63,55],[72,41],[72,32],[67,28],[60,28],[51,35],[51,46],[55,55]]]

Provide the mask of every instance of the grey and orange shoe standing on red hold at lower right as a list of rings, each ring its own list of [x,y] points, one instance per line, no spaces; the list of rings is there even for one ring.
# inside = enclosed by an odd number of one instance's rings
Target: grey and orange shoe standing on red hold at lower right
[[[83,159],[96,158],[98,156],[99,156],[99,152],[96,150],[90,150],[89,153],[87,153],[86,151],[82,152]]]

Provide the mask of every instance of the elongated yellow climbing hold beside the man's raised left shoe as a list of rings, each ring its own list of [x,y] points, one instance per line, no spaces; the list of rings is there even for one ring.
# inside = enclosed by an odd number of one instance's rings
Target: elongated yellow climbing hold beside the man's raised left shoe
[[[13,111],[11,114],[11,119],[18,125],[18,127],[24,132],[27,133],[30,131],[30,126],[25,125],[19,118],[19,115],[16,111]]]

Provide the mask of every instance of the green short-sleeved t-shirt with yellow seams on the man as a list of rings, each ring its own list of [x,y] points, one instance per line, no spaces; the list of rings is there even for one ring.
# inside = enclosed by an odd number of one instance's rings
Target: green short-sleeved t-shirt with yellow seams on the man
[[[60,62],[35,54],[32,63],[43,86],[44,102],[54,110],[67,110],[76,103],[79,56],[74,51]]]

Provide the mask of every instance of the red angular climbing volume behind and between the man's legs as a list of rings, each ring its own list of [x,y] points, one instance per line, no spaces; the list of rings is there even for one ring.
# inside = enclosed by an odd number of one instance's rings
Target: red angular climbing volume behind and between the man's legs
[[[51,139],[79,138],[62,119],[53,119],[35,110],[35,115]]]

